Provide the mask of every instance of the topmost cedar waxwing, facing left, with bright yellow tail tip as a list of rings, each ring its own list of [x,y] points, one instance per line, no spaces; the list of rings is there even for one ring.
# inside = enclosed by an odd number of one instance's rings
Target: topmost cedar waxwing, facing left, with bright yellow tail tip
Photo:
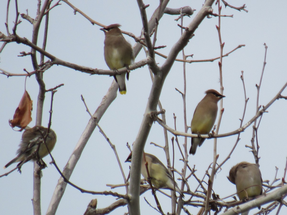
[[[121,30],[121,25],[112,24],[106,28],[100,28],[105,33],[104,40],[104,57],[106,64],[110,70],[118,70],[123,67],[127,67],[135,62],[133,55],[133,48],[129,44]],[[127,80],[129,80],[129,73],[122,73],[121,75],[114,75],[116,82],[119,85],[119,92],[126,94],[127,88],[125,85],[125,75],[127,74]]]

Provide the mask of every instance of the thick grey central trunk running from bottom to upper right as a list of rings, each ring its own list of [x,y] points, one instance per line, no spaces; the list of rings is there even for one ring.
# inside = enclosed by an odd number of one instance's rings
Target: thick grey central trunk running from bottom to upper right
[[[143,3],[140,2],[140,7],[143,6]],[[187,45],[190,36],[194,33],[195,29],[198,27],[198,25],[201,23],[201,21],[210,13],[211,5],[214,1],[213,0],[207,0],[205,1],[205,4],[201,8],[201,11],[194,17],[191,24],[189,24],[189,31],[185,31],[181,38],[179,39],[179,42],[174,44],[172,50],[170,51],[170,54],[168,55],[168,58],[164,62],[164,64],[161,67],[160,74],[155,74],[154,81],[152,85],[152,89],[150,92],[150,97],[148,99],[148,104],[146,107],[146,111],[144,113],[144,117],[141,123],[141,126],[139,128],[139,132],[137,134],[137,138],[135,140],[135,143],[133,145],[133,154],[136,155],[133,157],[134,159],[131,162],[131,180],[130,180],[130,187],[133,187],[134,189],[129,189],[129,194],[131,195],[131,199],[129,202],[129,214],[131,215],[138,215],[140,214],[139,210],[139,182],[140,182],[140,171],[139,166],[142,161],[143,151],[144,151],[144,145],[146,143],[146,139],[148,137],[148,134],[150,132],[153,119],[150,118],[150,114],[152,112],[156,112],[156,107],[158,105],[159,96],[161,93],[162,85],[164,83],[164,79],[168,72],[170,71],[170,68],[176,59],[177,54]],[[164,7],[162,7],[164,9]],[[141,9],[142,11],[143,9]],[[141,13],[144,13],[142,11]],[[145,22],[143,21],[143,24]],[[149,31],[147,31],[149,32]],[[145,35],[145,38],[147,39],[148,35]],[[150,50],[149,50],[150,51]]]

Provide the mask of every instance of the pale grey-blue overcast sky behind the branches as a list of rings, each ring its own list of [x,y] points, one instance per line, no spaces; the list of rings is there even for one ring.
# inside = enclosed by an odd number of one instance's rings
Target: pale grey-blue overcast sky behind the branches
[[[53,1],[54,2],[54,1]],[[77,8],[82,10],[92,19],[104,24],[119,23],[123,31],[131,32],[136,36],[140,35],[142,22],[136,1],[70,1]],[[55,1],[56,3],[56,1]],[[150,4],[146,9],[148,19],[158,6],[158,1],[144,1]],[[168,7],[179,8],[190,6],[196,9],[195,13],[189,18],[184,18],[184,26],[187,26],[193,17],[200,10],[204,1],[170,1]],[[233,3],[233,2],[228,2]],[[237,11],[230,8],[222,9],[222,14],[234,17],[222,17],[221,35],[225,42],[224,54],[236,48],[239,44],[245,44],[235,52],[225,57],[223,66],[223,99],[224,114],[220,126],[220,134],[236,130],[242,117],[244,108],[243,85],[240,79],[241,71],[244,71],[245,86],[249,101],[245,114],[244,123],[248,122],[256,111],[257,89],[255,84],[259,84],[264,60],[264,43],[267,44],[267,64],[263,75],[262,86],[260,89],[259,105],[266,105],[282,88],[287,81],[286,73],[286,11],[285,1],[277,1],[271,4],[270,1],[235,1],[234,6],[247,5],[248,13]],[[15,6],[11,1],[9,9],[9,28],[13,27],[15,20]],[[222,4],[222,2],[221,2]],[[26,13],[35,17],[37,1],[18,1],[20,13]],[[53,3],[52,3],[53,5]],[[223,4],[222,4],[223,5]],[[0,31],[6,33],[5,15],[6,1],[0,3]],[[217,5],[213,5],[214,13],[218,13]],[[46,51],[57,58],[72,62],[75,64],[108,69],[103,55],[104,33],[100,31],[100,26],[92,25],[86,18],[77,13],[73,14],[73,9],[62,2],[52,9],[49,13],[49,32]],[[164,15],[160,19],[156,46],[166,45],[166,48],[158,50],[162,54],[168,54],[173,44],[180,38],[181,31],[174,21],[178,16]],[[32,25],[23,20],[17,27],[17,34],[20,37],[31,39]],[[185,47],[185,54],[194,54],[194,60],[215,58],[220,55],[220,46],[218,40],[218,17],[204,19],[199,28],[195,31],[195,36]],[[38,46],[42,46],[44,22],[40,28]],[[133,38],[125,35],[127,41],[135,44]],[[0,43],[2,45],[2,43]],[[11,73],[24,73],[23,69],[33,71],[30,56],[17,57],[19,52],[29,52],[28,46],[16,43],[9,43],[0,54],[0,68]],[[135,61],[145,58],[144,50],[136,57]],[[182,59],[179,54],[178,58]],[[45,59],[47,60],[47,58]],[[156,56],[159,66],[164,62],[164,58]],[[216,89],[220,91],[218,60],[214,62],[187,64],[187,124],[190,125],[193,112],[197,103],[204,97],[204,91]],[[14,158],[18,149],[22,133],[13,131],[8,124],[8,120],[13,118],[16,107],[24,92],[24,77],[9,77],[0,75],[0,164],[4,166],[8,161]],[[82,94],[92,113],[100,104],[102,97],[106,94],[113,81],[113,77],[88,75],[62,66],[54,65],[44,73],[44,82],[46,89],[55,87],[61,83],[65,85],[58,89],[54,96],[53,115],[51,128],[57,133],[57,143],[52,152],[55,161],[62,170],[80,135],[86,127],[90,116],[87,114],[80,95]],[[99,125],[102,127],[110,141],[115,144],[121,162],[124,162],[129,155],[126,147],[134,142],[141,120],[146,108],[146,103],[150,93],[152,82],[148,67],[144,66],[135,71],[131,71],[127,84],[127,94],[118,93],[115,101],[110,105]],[[175,62],[168,74],[160,101],[166,110],[166,120],[170,127],[174,127],[173,113],[177,116],[177,130],[184,132],[183,123],[183,101],[181,95],[175,91],[175,88],[183,91],[183,65]],[[36,119],[36,101],[38,96],[38,84],[35,77],[27,79],[26,89],[33,102],[32,118],[30,127],[35,125]],[[283,91],[282,95],[287,95]],[[51,93],[46,93],[44,103],[42,125],[47,126],[49,120]],[[276,173],[276,167],[279,168],[277,178],[282,179],[286,164],[286,107],[287,101],[280,99],[268,109],[268,113],[263,115],[258,129],[258,141],[260,145],[259,164],[263,180],[273,181]],[[216,120],[217,122],[217,120]],[[190,132],[190,130],[189,130]],[[168,138],[172,138],[168,134]],[[235,185],[231,184],[226,176],[230,168],[241,161],[254,163],[253,154],[245,145],[250,145],[252,137],[252,126],[243,132],[240,136],[234,153],[228,162],[222,167],[222,171],[217,173],[214,181],[214,191],[220,195],[220,198],[232,195],[236,192]],[[221,163],[236,141],[237,136],[230,136],[218,139],[218,163]],[[180,145],[184,138],[179,138]],[[156,155],[166,164],[164,151],[160,148],[150,145],[155,142],[164,145],[163,129],[157,123],[153,124],[150,135],[146,142],[145,151]],[[190,138],[188,138],[188,148],[190,147]],[[170,141],[171,148],[171,141]],[[183,147],[182,147],[183,148]],[[175,168],[181,171],[183,167],[179,155],[179,150],[175,150]],[[197,149],[194,156],[189,156],[189,165],[195,165],[196,175],[202,178],[207,167],[213,161],[213,140],[206,140],[203,145]],[[51,196],[54,192],[57,181],[60,177],[54,166],[49,165],[51,159],[44,158],[48,168],[42,171],[41,186],[41,207],[42,214],[46,213]],[[15,164],[16,165],[16,164]],[[126,176],[129,173],[129,163],[122,163]],[[6,170],[1,169],[0,175],[9,171],[11,165]],[[211,172],[211,171],[210,171]],[[176,175],[178,178],[179,175]],[[95,129],[86,148],[84,149],[75,170],[70,179],[79,187],[93,191],[110,190],[106,184],[122,184],[119,166],[105,138]],[[198,183],[190,178],[188,181],[193,191]],[[180,181],[178,181],[180,183]],[[29,162],[23,165],[22,174],[13,172],[6,177],[0,178],[0,213],[1,214],[32,214],[32,194],[33,194],[33,163]],[[277,184],[277,183],[276,183]],[[185,187],[186,190],[186,187]],[[118,193],[125,193],[124,188],[113,189]],[[169,191],[166,191],[169,193]],[[154,198],[147,191],[141,196],[142,214],[156,214],[144,201],[146,196],[148,201],[155,206]],[[158,194],[160,203],[165,213],[170,212],[169,200]],[[189,196],[187,195],[187,198]],[[110,196],[93,196],[91,194],[82,194],[79,190],[67,185],[64,196],[61,200],[56,214],[83,214],[90,200],[98,199],[98,208],[104,208],[115,201]],[[229,198],[227,200],[232,200]],[[226,201],[227,201],[226,200]],[[196,214],[199,208],[187,206],[192,214]],[[254,213],[258,211],[254,210]],[[127,207],[118,208],[110,214],[123,214],[127,212]],[[275,214],[274,210],[271,214]],[[280,214],[286,214],[286,207],[283,207]]]

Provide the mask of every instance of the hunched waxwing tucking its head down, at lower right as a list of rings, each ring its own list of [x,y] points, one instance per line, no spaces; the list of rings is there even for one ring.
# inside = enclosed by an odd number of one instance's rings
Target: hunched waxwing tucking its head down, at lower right
[[[237,195],[240,200],[262,194],[262,177],[256,164],[245,161],[238,163],[230,169],[227,178],[236,185]],[[243,215],[247,215],[248,212],[244,212]]]

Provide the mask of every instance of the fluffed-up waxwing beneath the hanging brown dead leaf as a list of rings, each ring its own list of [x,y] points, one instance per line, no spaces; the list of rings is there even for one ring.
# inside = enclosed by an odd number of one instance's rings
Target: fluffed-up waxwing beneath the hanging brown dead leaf
[[[4,166],[4,169],[10,166],[12,163],[20,162],[17,165],[18,167],[29,155],[31,155],[34,151],[38,149],[39,144],[40,144],[40,147],[38,150],[39,157],[42,159],[43,157],[48,155],[49,152],[46,148],[46,145],[43,142],[43,137],[40,134],[40,132],[42,132],[43,135],[45,136],[45,134],[47,133],[47,129],[48,128],[44,128],[43,126],[34,126],[33,128],[26,129],[22,134],[22,140],[19,144],[19,149],[17,150],[17,153],[18,153],[17,157],[15,157],[12,161],[7,163]],[[52,129],[50,129],[49,134],[46,139],[46,144],[50,152],[53,150],[56,144],[56,141],[57,141],[57,136],[55,132]],[[36,154],[31,159],[36,161],[37,160]]]

